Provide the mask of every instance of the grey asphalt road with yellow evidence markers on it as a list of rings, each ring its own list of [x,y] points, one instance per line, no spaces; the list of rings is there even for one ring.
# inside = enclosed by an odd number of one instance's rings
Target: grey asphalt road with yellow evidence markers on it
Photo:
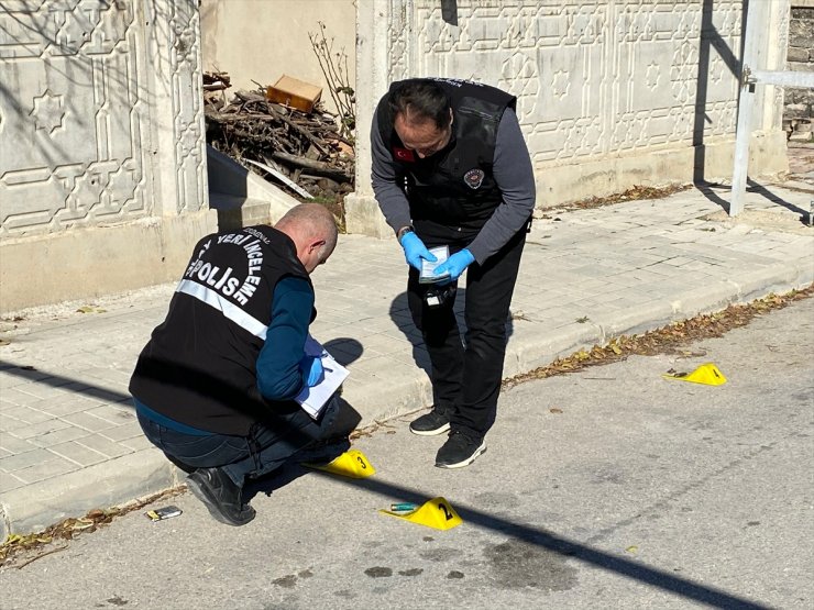
[[[530,381],[461,470],[387,422],[354,443],[373,477],[289,468],[238,529],[184,493],[180,517],[133,512],[6,566],[0,608],[810,609],[812,354],[809,299],[681,356]],[[661,377],[705,362],[728,382]],[[439,496],[462,524],[378,512]]]

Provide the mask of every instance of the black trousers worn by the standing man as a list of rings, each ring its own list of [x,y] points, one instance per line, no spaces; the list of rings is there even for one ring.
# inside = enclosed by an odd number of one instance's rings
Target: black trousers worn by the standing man
[[[429,222],[416,222],[416,233],[427,247],[449,245],[450,254],[472,241],[455,228]],[[453,311],[457,292],[443,304],[429,307],[425,295],[433,285],[419,284],[418,271],[409,269],[407,301],[430,356],[435,404],[450,412],[452,430],[483,436],[495,421],[506,322],[525,243],[524,228],[483,265],[469,266],[463,343]]]

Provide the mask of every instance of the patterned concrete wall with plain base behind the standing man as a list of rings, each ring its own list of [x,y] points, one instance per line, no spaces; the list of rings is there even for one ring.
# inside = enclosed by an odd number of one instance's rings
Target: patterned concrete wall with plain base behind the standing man
[[[377,99],[392,80],[427,75],[471,78],[515,93],[540,206],[634,184],[724,178],[732,175],[743,4],[458,0],[454,22],[444,21],[435,0],[362,3],[358,99]],[[777,67],[783,58],[774,49],[787,44],[788,1],[762,2],[756,12],[767,25],[765,67]],[[784,169],[781,104],[782,93],[765,88],[754,147],[763,173]],[[370,104],[359,114],[366,130]],[[373,218],[367,132],[361,130],[349,228],[387,233]]]

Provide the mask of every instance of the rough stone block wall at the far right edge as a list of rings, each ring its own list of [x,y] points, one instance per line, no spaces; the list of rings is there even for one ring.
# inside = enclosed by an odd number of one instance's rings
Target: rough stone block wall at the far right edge
[[[787,69],[814,71],[814,0],[792,0]],[[814,89],[785,89],[783,129],[791,140],[811,141]]]

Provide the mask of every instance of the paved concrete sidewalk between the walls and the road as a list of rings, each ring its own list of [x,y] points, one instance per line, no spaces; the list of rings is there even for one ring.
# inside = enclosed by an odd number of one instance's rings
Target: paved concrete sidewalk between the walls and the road
[[[789,185],[787,185],[789,186]],[[793,186],[793,185],[792,185]],[[814,281],[811,185],[758,187],[729,219],[727,191],[547,211],[534,223],[512,306],[505,376],[558,355]],[[394,240],[342,235],[314,275],[312,334],[351,369],[362,425],[431,401],[427,356]],[[0,339],[0,536],[178,485],[142,436],[127,391],[174,285],[26,311]],[[82,306],[85,313],[77,310]]]

